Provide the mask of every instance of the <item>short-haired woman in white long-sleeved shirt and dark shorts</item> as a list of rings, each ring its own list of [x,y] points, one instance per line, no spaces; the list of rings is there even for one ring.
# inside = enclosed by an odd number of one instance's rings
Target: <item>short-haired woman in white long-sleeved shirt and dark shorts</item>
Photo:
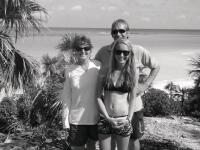
[[[76,62],[65,71],[62,119],[63,128],[70,129],[73,150],[83,150],[88,139],[87,149],[94,150],[98,139],[96,84],[100,62],[90,59],[91,49],[89,38],[77,36],[73,44]]]

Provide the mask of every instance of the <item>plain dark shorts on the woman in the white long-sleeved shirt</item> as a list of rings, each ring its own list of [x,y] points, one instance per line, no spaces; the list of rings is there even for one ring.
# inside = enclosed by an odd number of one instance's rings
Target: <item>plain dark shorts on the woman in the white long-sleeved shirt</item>
[[[83,146],[88,139],[98,140],[97,125],[73,125],[70,124],[68,142],[72,146]]]

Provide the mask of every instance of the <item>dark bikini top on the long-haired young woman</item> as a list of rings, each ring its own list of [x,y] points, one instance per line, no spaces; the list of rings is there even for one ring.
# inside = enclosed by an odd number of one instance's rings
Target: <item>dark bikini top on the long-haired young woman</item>
[[[113,82],[108,85],[104,85],[104,90],[106,91],[117,91],[122,93],[127,93],[131,91],[130,85],[128,85],[126,82],[123,82],[120,86],[114,86]]]

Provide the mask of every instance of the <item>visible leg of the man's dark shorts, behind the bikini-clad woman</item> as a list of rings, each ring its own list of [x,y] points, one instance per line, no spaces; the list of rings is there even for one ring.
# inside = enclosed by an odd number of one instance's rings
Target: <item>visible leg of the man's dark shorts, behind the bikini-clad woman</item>
[[[133,133],[131,134],[131,139],[137,140],[144,135],[144,117],[143,110],[137,111],[134,113],[131,120]]]

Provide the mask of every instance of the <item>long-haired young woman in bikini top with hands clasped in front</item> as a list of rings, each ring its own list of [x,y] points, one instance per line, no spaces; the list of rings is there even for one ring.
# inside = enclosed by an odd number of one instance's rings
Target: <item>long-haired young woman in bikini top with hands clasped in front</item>
[[[128,39],[116,40],[109,68],[103,68],[99,73],[97,102],[101,113],[98,123],[101,150],[111,149],[112,134],[116,135],[118,150],[128,149],[138,81],[133,55]]]

